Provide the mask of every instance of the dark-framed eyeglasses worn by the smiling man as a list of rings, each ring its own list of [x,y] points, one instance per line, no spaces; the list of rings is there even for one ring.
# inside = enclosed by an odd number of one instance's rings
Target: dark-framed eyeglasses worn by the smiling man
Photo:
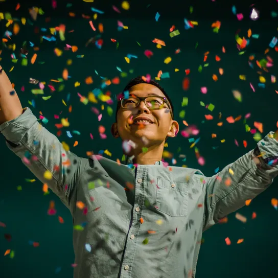
[[[123,109],[134,109],[137,107],[141,101],[144,101],[146,106],[151,110],[158,110],[162,108],[168,108],[171,114],[172,119],[174,119],[172,109],[169,108],[169,102],[167,98],[165,97],[158,97],[158,96],[150,96],[145,98],[138,98],[138,97],[129,97],[129,98],[123,98],[121,100],[121,106]],[[165,104],[167,106],[165,106]]]

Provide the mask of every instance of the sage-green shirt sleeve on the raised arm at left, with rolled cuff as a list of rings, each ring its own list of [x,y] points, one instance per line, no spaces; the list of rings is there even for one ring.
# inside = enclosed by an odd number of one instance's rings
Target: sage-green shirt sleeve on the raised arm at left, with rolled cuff
[[[28,107],[16,119],[0,125],[0,133],[9,149],[68,206],[68,197],[88,159],[65,150]]]

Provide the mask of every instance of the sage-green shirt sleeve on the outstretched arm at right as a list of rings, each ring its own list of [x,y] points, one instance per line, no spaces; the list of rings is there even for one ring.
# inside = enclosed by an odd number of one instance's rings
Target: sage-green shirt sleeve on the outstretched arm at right
[[[205,177],[203,230],[265,191],[278,175],[278,142],[269,132],[257,147],[221,172]]]

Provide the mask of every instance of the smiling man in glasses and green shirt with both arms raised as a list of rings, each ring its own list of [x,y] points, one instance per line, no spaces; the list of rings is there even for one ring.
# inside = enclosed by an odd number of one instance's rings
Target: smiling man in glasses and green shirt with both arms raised
[[[134,79],[119,98],[111,131],[123,141],[125,164],[65,151],[29,108],[22,113],[11,91],[2,71],[0,132],[71,211],[76,278],[194,277],[202,231],[263,192],[278,174],[277,132],[213,177],[164,165],[165,141],[179,127],[170,99],[153,81]]]

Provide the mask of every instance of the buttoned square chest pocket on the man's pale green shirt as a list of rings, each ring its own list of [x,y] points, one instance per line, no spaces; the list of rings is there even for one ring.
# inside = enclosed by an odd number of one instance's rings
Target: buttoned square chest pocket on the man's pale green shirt
[[[158,178],[155,207],[170,216],[187,216],[188,184]]]

